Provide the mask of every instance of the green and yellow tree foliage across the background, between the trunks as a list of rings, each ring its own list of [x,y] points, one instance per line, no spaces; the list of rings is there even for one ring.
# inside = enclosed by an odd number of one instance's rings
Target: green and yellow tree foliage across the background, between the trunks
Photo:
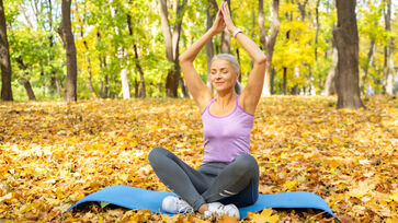
[[[169,22],[173,26],[175,13],[172,11],[178,0],[168,1]],[[181,2],[181,0],[179,0]],[[57,28],[60,22],[60,0],[53,0],[49,15],[48,1],[5,0],[5,16],[9,23],[9,42],[13,70],[13,89],[16,99],[26,99],[21,79],[27,78],[38,99],[60,98],[66,77],[66,56]],[[221,1],[218,0],[219,4]],[[302,2],[302,1],[300,1]],[[231,14],[237,27],[242,28],[258,45],[260,28],[258,25],[258,1],[231,1]],[[303,3],[303,2],[302,2]],[[189,0],[182,23],[180,54],[190,47],[206,32],[207,0]],[[35,7],[37,9],[32,10]],[[78,97],[89,98],[88,79],[91,77],[96,96],[107,87],[109,97],[122,94],[120,73],[127,69],[132,95],[136,83],[140,81],[137,66],[144,71],[147,96],[164,96],[164,84],[172,64],[166,58],[164,39],[161,30],[159,2],[157,0],[76,0],[72,3],[72,31],[78,59]],[[271,34],[272,1],[264,1],[266,35]],[[29,10],[27,10],[29,9]],[[114,10],[114,13],[112,13]],[[303,19],[297,2],[280,2],[281,26],[276,39],[272,68],[275,70],[274,91],[282,93],[283,71],[287,70],[287,87],[316,90],[320,93],[331,64],[331,44],[333,24],[337,22],[334,4],[320,0],[319,32],[316,43],[316,1],[308,1]],[[36,14],[32,14],[36,12]],[[382,91],[384,47],[393,36],[397,42],[397,16],[393,21],[391,32],[384,26],[385,5],[382,1],[359,2],[357,26],[360,33],[361,77],[367,63],[371,40],[375,40],[376,50],[368,66],[366,84],[378,93]],[[33,27],[25,21],[30,17]],[[30,16],[33,15],[33,16]],[[254,15],[254,20],[253,20]],[[128,24],[127,17],[130,17]],[[52,24],[52,25],[49,25]],[[287,38],[288,33],[288,38]],[[50,45],[49,37],[53,36]],[[220,46],[220,35],[213,38],[215,48]],[[137,47],[137,57],[134,46]],[[231,38],[230,51],[237,56],[239,50],[243,85],[251,71],[251,58],[240,44]],[[214,50],[216,54],[216,50]],[[316,60],[317,55],[317,60]],[[21,69],[18,59],[26,69]],[[395,59],[398,60],[397,50]],[[205,49],[194,63],[203,81],[207,77]],[[105,79],[109,84],[105,84]],[[360,79],[361,79],[360,77]],[[55,81],[60,84],[60,94]],[[159,84],[160,90],[159,91]],[[163,90],[162,90],[163,89]],[[287,90],[289,92],[289,90]]]

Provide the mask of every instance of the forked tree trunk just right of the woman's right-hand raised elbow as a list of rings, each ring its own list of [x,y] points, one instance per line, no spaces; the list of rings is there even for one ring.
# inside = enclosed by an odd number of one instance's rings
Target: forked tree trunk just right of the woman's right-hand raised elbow
[[[272,64],[272,54],[274,51],[275,40],[277,33],[280,31],[280,0],[272,1],[272,21],[271,21],[271,36],[266,37],[266,31],[264,25],[264,10],[263,0],[259,0],[259,26],[260,26],[260,40],[264,47],[266,63],[265,63],[265,80],[262,90],[262,96],[270,96],[270,81],[271,81],[271,64]],[[268,39],[269,38],[269,39]]]

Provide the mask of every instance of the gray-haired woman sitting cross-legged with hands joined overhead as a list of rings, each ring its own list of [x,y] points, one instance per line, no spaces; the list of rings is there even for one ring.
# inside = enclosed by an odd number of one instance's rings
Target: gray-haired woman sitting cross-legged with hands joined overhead
[[[231,55],[218,55],[211,63],[211,80],[217,92],[213,97],[193,61],[211,38],[225,27],[254,60],[247,86],[237,95],[234,86],[240,74]],[[236,215],[237,207],[254,203],[259,197],[259,166],[250,152],[250,131],[264,82],[265,56],[234,25],[227,2],[223,2],[211,30],[180,56],[186,85],[202,113],[204,159],[198,169],[191,168],[170,151],[155,148],[149,162],[160,180],[181,198],[169,196],[163,211],[198,211],[205,218]]]

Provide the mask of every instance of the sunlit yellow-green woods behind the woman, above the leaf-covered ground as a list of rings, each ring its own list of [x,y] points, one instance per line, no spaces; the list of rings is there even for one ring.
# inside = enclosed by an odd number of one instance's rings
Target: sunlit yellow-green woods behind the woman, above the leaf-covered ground
[[[178,58],[167,56],[167,50],[172,47],[173,52],[179,55],[198,39],[214,20],[219,2],[169,1],[166,4],[168,31],[162,27],[164,11],[160,2],[72,1],[70,20],[76,45],[79,99],[189,96],[177,64]],[[260,2],[262,9],[259,8]],[[272,1],[230,1],[229,4],[237,27],[262,46],[260,15],[264,16],[263,28],[270,35]],[[260,10],[263,13],[259,13]],[[61,98],[67,75],[66,54],[58,34],[61,1],[5,0],[4,12],[14,99]],[[355,12],[362,94],[394,93],[386,91],[387,81],[394,84],[397,92],[394,61],[397,61],[398,52],[394,50],[394,43],[397,43],[398,28],[394,1],[357,1]],[[284,0],[280,2],[278,16],[270,93],[332,94],[334,83],[327,80],[328,75],[333,80],[338,60],[332,35],[337,23],[334,2]],[[172,46],[167,46],[164,32],[169,32],[167,35],[172,38]],[[207,62],[212,56],[230,52],[239,59],[240,81],[245,85],[251,70],[251,59],[236,39],[227,35],[213,38],[211,48],[204,48],[197,56],[195,68],[207,82]],[[393,72],[393,79],[387,78],[388,72]]]

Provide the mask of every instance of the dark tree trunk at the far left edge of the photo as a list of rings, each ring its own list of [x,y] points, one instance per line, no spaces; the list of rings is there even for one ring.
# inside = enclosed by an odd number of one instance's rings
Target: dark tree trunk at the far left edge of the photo
[[[13,101],[11,89],[11,62],[7,39],[7,24],[3,1],[0,0],[0,67],[1,67],[1,99]]]

